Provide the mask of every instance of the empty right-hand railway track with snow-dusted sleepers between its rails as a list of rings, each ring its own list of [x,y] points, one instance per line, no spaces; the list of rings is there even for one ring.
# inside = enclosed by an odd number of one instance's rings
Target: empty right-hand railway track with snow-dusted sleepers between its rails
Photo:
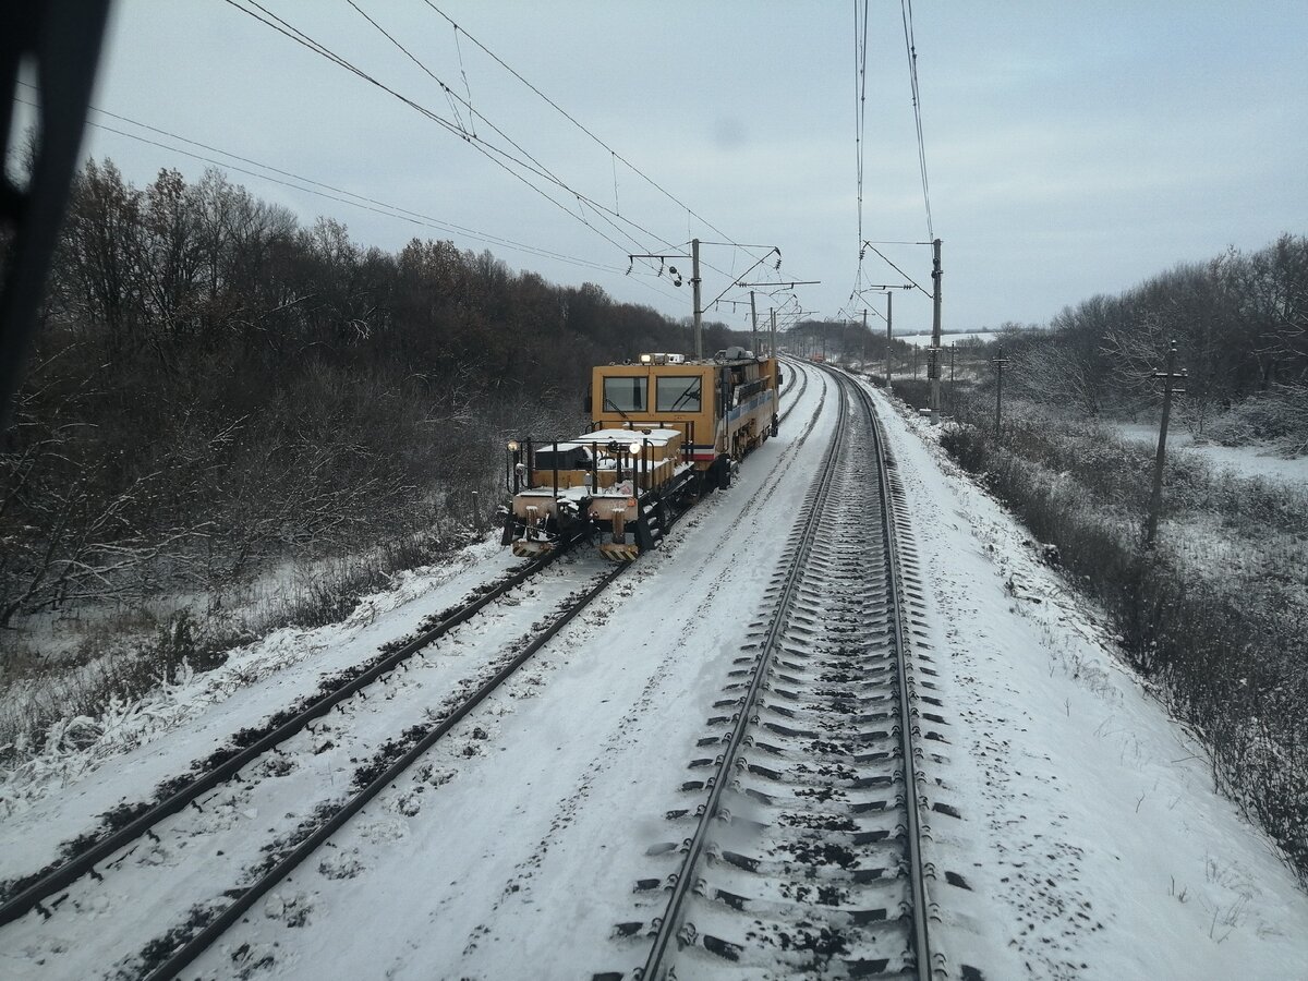
[[[636,886],[650,918],[615,931],[649,942],[633,977],[931,977],[892,493],[844,387],[774,607],[698,743],[718,752],[689,764],[698,803],[668,814],[685,838]]]

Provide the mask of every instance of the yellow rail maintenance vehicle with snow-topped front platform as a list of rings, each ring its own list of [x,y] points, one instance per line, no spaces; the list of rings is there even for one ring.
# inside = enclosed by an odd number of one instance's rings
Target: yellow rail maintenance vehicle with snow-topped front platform
[[[595,368],[590,432],[509,443],[504,544],[538,556],[589,535],[606,559],[632,561],[691,504],[730,487],[736,463],[777,434],[780,386],[777,360],[744,348]]]

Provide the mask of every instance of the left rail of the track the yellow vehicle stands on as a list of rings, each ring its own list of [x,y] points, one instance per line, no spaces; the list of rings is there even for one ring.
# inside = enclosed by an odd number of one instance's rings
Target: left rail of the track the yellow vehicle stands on
[[[158,824],[165,818],[182,811],[184,807],[198,800],[201,795],[213,790],[220,783],[224,783],[233,777],[235,777],[242,769],[249,766],[252,761],[281,744],[290,736],[296,735],[306,725],[319,718],[320,715],[330,712],[337,702],[356,695],[362,688],[375,681],[382,675],[394,671],[403,661],[416,654],[422,647],[428,646],[433,641],[442,637],[445,633],[466,623],[477,612],[480,612],[488,603],[505,595],[509,590],[522,585],[526,579],[535,576],[538,572],[544,569],[547,565],[553,562],[561,552],[552,552],[540,559],[532,560],[522,569],[504,579],[498,586],[496,586],[489,593],[479,596],[471,603],[460,607],[454,613],[443,619],[439,624],[425,630],[413,641],[409,641],[403,647],[392,651],[382,661],[377,662],[368,671],[362,672],[357,678],[352,679],[349,683],[341,685],[340,688],[324,695],[322,698],[314,701],[311,705],[305,708],[301,713],[288,719],[283,725],[277,726],[271,732],[263,735],[256,742],[241,749],[238,753],[225,760],[220,765],[215,766],[212,770],[198,776],[194,781],[186,783],[183,787],[173,793],[166,799],[154,804],[129,823],[124,824],[114,832],[89,846],[85,852],[75,855],[69,861],[56,866],[51,871],[41,875],[39,879],[24,887],[21,891],[10,896],[3,905],[0,905],[0,926],[4,923],[18,920],[20,917],[30,913],[33,909],[44,909],[41,905],[41,900],[51,896],[59,889],[71,886],[73,882],[80,879],[82,875],[94,872],[94,867],[101,861],[109,858],[119,849],[131,844],[136,838],[145,835],[150,828]]]

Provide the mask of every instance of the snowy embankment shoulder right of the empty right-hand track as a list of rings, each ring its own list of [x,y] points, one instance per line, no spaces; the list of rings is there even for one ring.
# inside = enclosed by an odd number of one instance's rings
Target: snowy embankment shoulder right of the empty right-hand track
[[[1308,896],[1202,747],[931,426],[878,398],[955,713],[934,776],[963,818],[933,820],[972,887],[937,891],[955,959],[971,946],[990,978],[1308,977]]]

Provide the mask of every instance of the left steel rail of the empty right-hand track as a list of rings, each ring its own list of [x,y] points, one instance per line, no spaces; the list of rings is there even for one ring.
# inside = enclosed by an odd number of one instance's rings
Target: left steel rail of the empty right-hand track
[[[844,428],[846,417],[845,399],[840,400],[840,416],[836,424],[837,433]],[[696,825],[695,835],[691,838],[691,844],[687,849],[687,855],[681,863],[681,874],[676,876],[676,882],[672,886],[672,893],[668,897],[667,906],[663,910],[663,916],[658,918],[654,943],[650,947],[650,954],[645,960],[645,965],[641,969],[640,977],[642,981],[654,981],[657,977],[655,972],[662,965],[663,957],[667,954],[668,943],[679,933],[680,929],[680,914],[681,906],[685,901],[687,895],[691,891],[693,876],[692,870],[698,862],[700,855],[704,853],[704,848],[708,844],[709,828],[718,812],[718,804],[722,798],[723,790],[729,785],[727,776],[734,764],[735,756],[739,752],[740,744],[744,742],[746,731],[749,727],[751,709],[753,708],[755,700],[757,698],[759,689],[763,685],[763,679],[768,674],[768,666],[772,662],[773,651],[777,647],[777,640],[783,629],[785,612],[790,604],[790,599],[794,595],[794,590],[798,586],[799,576],[798,572],[803,568],[808,553],[812,548],[814,540],[816,538],[818,528],[820,527],[821,508],[820,504],[831,490],[831,485],[835,480],[836,473],[836,459],[838,455],[838,441],[833,439],[827,450],[827,455],[823,459],[823,468],[819,477],[816,490],[814,493],[814,504],[808,508],[808,513],[804,517],[804,523],[799,532],[800,547],[795,551],[795,559],[791,562],[791,568],[786,577],[786,586],[782,591],[781,598],[777,600],[776,612],[773,613],[772,623],[768,628],[766,640],[760,647],[759,661],[753,670],[753,676],[749,680],[749,688],[744,693],[740,701],[740,710],[735,717],[735,726],[731,730],[731,736],[727,743],[727,748],[722,752],[718,768],[712,777],[712,789],[709,791],[709,799],[704,804],[704,810],[700,815],[700,820]]]

